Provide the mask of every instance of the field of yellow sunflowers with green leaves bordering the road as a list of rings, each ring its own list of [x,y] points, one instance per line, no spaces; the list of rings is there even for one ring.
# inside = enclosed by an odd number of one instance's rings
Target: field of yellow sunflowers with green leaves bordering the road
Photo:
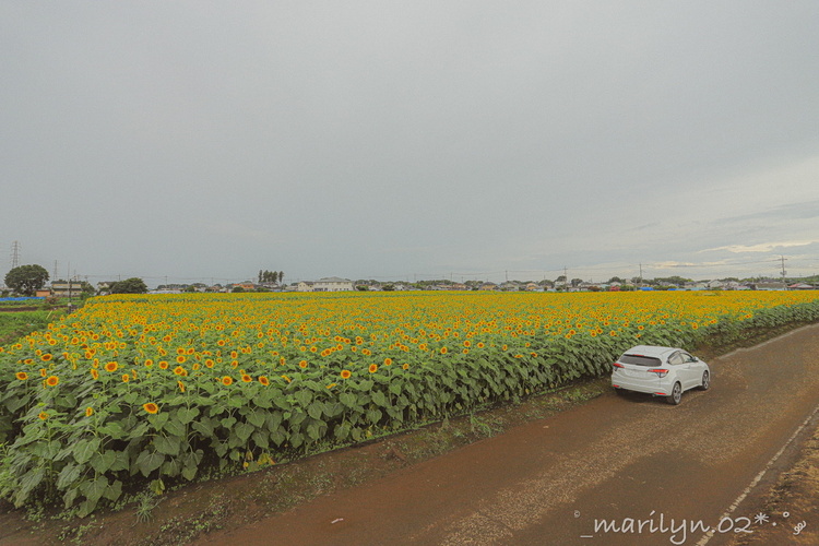
[[[87,514],[608,373],[632,345],[816,320],[815,292],[93,298],[0,347],[0,495]]]

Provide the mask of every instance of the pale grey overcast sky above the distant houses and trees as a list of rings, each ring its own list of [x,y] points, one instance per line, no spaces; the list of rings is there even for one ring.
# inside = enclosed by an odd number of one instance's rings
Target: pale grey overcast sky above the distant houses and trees
[[[819,2],[0,0],[0,183],[3,275],[814,274]]]

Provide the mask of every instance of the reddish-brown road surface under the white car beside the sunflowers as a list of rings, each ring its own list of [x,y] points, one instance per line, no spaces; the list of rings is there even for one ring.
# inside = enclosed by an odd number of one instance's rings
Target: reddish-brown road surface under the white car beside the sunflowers
[[[725,544],[816,426],[819,325],[710,364],[679,406],[604,395],[202,544]]]

